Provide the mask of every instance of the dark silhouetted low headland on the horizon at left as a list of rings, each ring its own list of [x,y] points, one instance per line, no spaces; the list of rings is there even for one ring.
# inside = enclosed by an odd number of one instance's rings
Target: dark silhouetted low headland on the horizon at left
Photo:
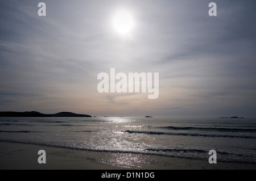
[[[55,114],[44,114],[36,111],[26,112],[0,112],[0,117],[92,117],[90,115],[77,114],[73,112],[59,112]]]

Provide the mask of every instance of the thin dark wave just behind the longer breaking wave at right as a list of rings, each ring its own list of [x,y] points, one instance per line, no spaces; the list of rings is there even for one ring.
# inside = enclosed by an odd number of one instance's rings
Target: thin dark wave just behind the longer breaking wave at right
[[[197,130],[197,131],[221,131],[221,132],[256,132],[256,129],[241,128],[204,128],[204,127],[158,127],[171,130]]]

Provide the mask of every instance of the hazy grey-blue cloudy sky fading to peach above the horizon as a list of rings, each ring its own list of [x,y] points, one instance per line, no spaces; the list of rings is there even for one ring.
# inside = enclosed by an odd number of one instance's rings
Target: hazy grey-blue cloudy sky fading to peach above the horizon
[[[39,2],[46,16],[39,16]],[[209,16],[210,2],[217,16]],[[256,117],[255,1],[2,0],[0,111]],[[113,19],[129,13],[122,35]],[[101,72],[159,73],[159,96],[100,93]]]

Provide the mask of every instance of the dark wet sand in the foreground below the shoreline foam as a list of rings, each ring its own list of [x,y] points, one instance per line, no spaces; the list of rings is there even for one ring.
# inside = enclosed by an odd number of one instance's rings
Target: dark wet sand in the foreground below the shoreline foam
[[[46,164],[38,163],[38,151],[46,151]],[[217,162],[130,153],[102,153],[46,146],[0,142],[0,169],[76,170],[183,170],[256,169],[254,164]]]

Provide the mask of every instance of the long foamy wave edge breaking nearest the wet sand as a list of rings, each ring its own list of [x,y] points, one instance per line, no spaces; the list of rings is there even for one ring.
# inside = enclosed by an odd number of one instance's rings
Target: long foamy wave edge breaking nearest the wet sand
[[[128,154],[144,154],[144,155],[158,155],[164,157],[174,157],[174,158],[187,158],[187,159],[198,159],[207,160],[209,158],[208,150],[198,150],[198,149],[144,149],[144,150],[112,150],[112,149],[91,149],[82,148],[80,146],[67,146],[67,145],[57,145],[57,144],[47,144],[43,142],[31,142],[31,141],[16,141],[16,140],[2,140],[0,142],[10,142],[15,144],[27,144],[27,145],[37,145],[37,146],[47,146],[52,148],[63,148],[71,150],[82,150],[82,151],[95,151],[95,152],[105,152],[105,153],[128,153]],[[217,158],[220,162],[232,162],[232,163],[253,163],[256,164],[256,158],[250,155],[234,154],[227,152],[217,152]]]

